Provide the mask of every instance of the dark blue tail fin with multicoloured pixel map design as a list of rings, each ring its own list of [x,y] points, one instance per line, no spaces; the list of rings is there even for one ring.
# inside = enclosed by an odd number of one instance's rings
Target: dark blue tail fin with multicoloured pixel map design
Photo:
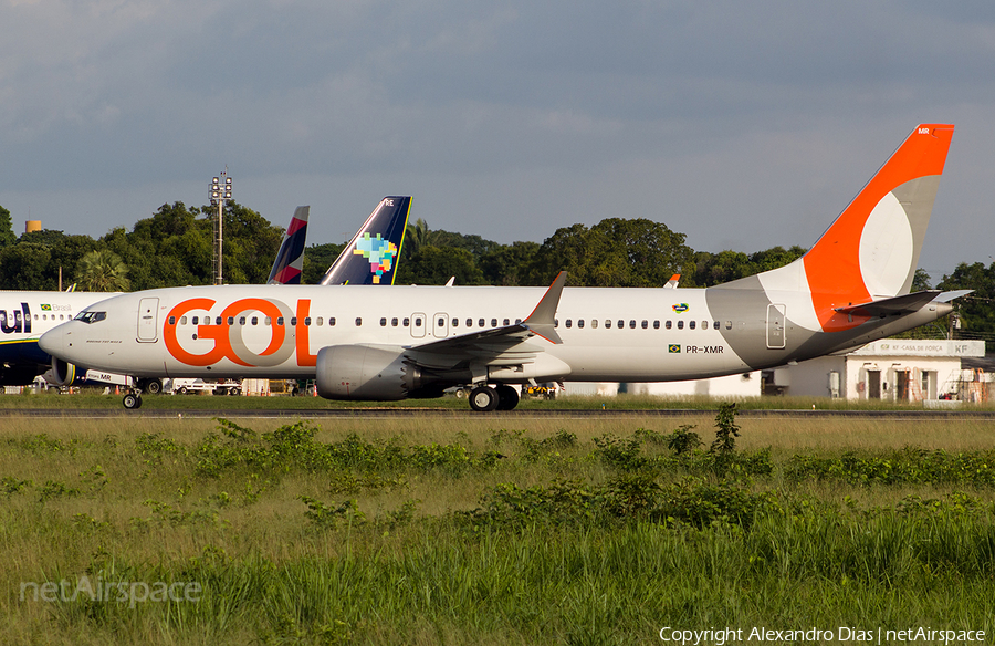
[[[321,284],[394,284],[410,210],[410,196],[381,199]]]

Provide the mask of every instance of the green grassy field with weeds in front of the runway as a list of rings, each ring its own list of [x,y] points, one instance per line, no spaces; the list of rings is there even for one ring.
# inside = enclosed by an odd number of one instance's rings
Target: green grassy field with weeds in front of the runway
[[[0,635],[991,643],[993,440],[972,420],[9,419]]]

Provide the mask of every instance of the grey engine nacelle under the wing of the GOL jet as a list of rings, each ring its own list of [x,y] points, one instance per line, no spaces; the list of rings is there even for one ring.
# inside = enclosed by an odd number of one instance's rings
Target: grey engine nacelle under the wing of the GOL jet
[[[421,372],[400,347],[329,345],[315,362],[317,394],[325,399],[406,399],[421,389]]]

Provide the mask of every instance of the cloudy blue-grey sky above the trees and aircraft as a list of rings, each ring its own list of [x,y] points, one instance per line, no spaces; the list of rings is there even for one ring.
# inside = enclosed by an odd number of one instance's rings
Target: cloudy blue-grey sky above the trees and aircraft
[[[647,217],[810,246],[921,122],[956,125],[920,264],[992,262],[995,3],[0,0],[0,205],[66,233],[235,199],[308,242],[385,195],[542,242]]]

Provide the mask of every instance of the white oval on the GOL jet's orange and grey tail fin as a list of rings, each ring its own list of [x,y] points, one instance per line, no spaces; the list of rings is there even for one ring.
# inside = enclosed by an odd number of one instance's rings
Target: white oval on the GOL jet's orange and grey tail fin
[[[860,275],[871,296],[894,296],[912,270],[912,227],[901,202],[881,198],[860,235]]]

